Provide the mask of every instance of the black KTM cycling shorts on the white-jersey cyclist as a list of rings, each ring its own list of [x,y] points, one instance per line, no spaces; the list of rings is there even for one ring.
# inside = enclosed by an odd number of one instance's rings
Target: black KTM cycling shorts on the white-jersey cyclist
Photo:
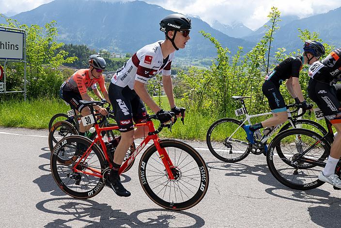
[[[135,90],[128,86],[120,87],[110,83],[108,92],[115,119],[121,132],[134,130],[133,121],[138,124],[146,119],[146,107]]]

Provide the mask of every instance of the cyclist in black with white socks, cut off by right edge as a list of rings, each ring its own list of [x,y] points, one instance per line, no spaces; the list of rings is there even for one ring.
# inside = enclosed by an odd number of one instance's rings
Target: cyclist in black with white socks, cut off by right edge
[[[335,127],[338,134],[330,148],[330,155],[319,179],[341,188],[335,168],[341,157],[341,48],[333,50],[324,60],[309,68],[308,95]],[[336,84],[336,85],[334,85]]]

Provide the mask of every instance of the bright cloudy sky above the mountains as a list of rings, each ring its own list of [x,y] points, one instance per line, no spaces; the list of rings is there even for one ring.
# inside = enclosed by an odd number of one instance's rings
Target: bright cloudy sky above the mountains
[[[0,0],[0,13],[13,16],[32,10],[52,0]],[[106,0],[118,1],[118,0]],[[121,0],[127,1],[127,0]],[[129,0],[130,1],[130,0]],[[326,13],[341,7],[341,0],[144,0],[190,16],[199,16],[212,24],[214,20],[223,24],[242,22],[248,28],[256,30],[268,20],[266,17],[272,6],[281,12],[281,16],[300,18]]]

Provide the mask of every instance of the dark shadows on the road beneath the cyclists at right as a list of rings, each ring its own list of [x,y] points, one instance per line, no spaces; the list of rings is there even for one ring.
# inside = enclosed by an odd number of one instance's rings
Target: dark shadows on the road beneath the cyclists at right
[[[316,225],[321,227],[341,227],[340,198],[330,196],[330,193],[325,190],[316,188],[309,191],[300,191],[288,188],[272,176],[266,164],[247,165],[244,163],[210,162],[207,163],[207,166],[209,169],[226,171],[225,176],[240,178],[248,178],[249,175],[257,176],[261,183],[273,186],[265,189],[267,194],[308,203],[308,212],[311,221]],[[334,190],[331,185],[328,185],[328,187],[330,191],[341,191]]]

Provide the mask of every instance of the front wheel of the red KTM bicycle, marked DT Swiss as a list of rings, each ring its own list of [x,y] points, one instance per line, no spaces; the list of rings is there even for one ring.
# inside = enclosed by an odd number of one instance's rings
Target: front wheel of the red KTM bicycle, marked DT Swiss
[[[148,147],[140,160],[140,183],[157,205],[169,210],[186,210],[198,204],[208,189],[208,169],[200,154],[176,140],[161,140],[173,163],[171,180],[155,145]]]

